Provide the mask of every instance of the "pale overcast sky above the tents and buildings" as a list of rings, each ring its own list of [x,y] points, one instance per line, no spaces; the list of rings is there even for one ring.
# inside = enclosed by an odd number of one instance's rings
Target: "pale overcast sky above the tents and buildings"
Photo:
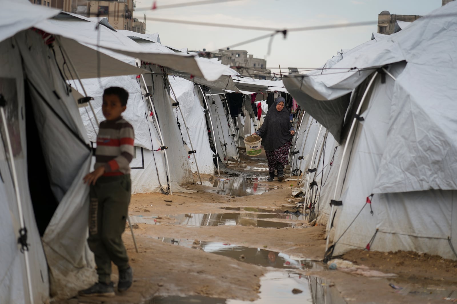
[[[157,6],[195,0],[157,0]],[[137,8],[151,7],[153,0],[136,1]],[[147,17],[201,21],[269,28],[292,28],[335,23],[377,21],[377,15],[425,15],[441,6],[441,0],[236,0],[226,3],[186,6],[137,12]],[[158,32],[163,44],[189,50],[207,51],[224,48],[241,41],[266,35],[269,31],[190,26],[168,22],[147,21],[147,33]],[[351,49],[371,39],[377,26],[289,32],[274,37],[267,56],[269,39],[238,46],[254,57],[266,58],[267,67],[319,67],[338,50]]]

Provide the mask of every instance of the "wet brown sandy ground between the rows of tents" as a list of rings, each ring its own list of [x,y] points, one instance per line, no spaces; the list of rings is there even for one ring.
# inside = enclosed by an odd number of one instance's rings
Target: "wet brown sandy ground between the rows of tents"
[[[320,287],[326,290],[326,298],[322,301],[315,300],[314,303],[447,303],[444,298],[457,297],[457,293],[452,294],[457,289],[457,262],[440,257],[414,252],[353,250],[343,258],[356,266],[364,265],[370,270],[394,273],[396,278],[367,278],[339,269],[329,270],[319,262],[325,248],[323,226],[310,227],[307,221],[284,218],[260,220],[258,213],[262,213],[262,209],[277,213],[293,211],[292,206],[297,201],[291,196],[293,183],[264,181],[266,160],[262,155],[254,160],[244,156],[242,161],[231,164],[230,168],[258,176],[259,185],[267,184],[270,188],[268,192],[241,197],[227,196],[216,193],[211,186],[187,184],[183,187],[195,192],[175,193],[171,196],[159,193],[134,195],[129,214],[134,223],[138,253],[129,229],[123,235],[134,269],[132,288],[113,298],[74,298],[59,303],[155,303],[150,299],[157,295],[201,295],[275,303],[261,298],[260,279],[278,269],[265,267],[268,264],[259,266],[245,263],[246,257],[237,252],[226,256],[205,252],[201,241],[259,248],[254,249],[258,252],[282,252],[302,261],[300,263],[306,263],[304,260],[317,261],[311,269],[293,269],[300,277],[322,279],[319,281]],[[202,175],[202,179],[214,182],[217,177]],[[237,207],[242,210],[236,210]],[[245,207],[249,208],[243,209]],[[221,216],[241,216],[244,220],[239,220],[234,226],[183,224],[182,218],[191,221],[198,214],[205,214],[208,218],[213,216],[215,219],[220,219]],[[142,218],[148,219],[148,223],[141,223]],[[293,227],[285,227],[287,225]],[[187,243],[188,246],[176,246],[180,242]],[[112,279],[117,282],[116,273],[113,273]],[[291,290],[287,292],[290,293]],[[288,300],[282,302],[290,303]],[[200,303],[213,302],[203,300]]]

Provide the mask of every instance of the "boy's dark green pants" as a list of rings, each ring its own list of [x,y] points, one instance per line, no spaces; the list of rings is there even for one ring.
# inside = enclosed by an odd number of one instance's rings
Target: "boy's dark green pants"
[[[122,232],[128,216],[130,175],[101,176],[90,185],[89,248],[95,254],[98,280],[111,282],[111,261],[119,270],[129,267]]]

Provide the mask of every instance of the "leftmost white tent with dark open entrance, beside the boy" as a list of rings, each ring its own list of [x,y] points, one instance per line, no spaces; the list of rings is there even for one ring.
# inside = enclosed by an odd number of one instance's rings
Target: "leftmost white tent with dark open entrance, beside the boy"
[[[82,181],[89,140],[56,47],[27,30],[57,13],[28,2],[9,2],[0,12],[1,303],[67,297],[96,279]]]

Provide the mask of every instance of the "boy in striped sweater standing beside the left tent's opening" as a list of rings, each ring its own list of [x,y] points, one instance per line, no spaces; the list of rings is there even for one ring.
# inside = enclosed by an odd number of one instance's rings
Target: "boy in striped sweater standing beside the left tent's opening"
[[[82,296],[114,296],[111,262],[119,269],[117,289],[132,285],[133,271],[128,264],[122,232],[128,216],[131,180],[129,163],[133,158],[133,127],[121,116],[127,108],[128,92],[123,88],[106,88],[97,135],[94,171],[84,177],[90,185],[89,243],[95,254],[98,283],[81,290]]]

